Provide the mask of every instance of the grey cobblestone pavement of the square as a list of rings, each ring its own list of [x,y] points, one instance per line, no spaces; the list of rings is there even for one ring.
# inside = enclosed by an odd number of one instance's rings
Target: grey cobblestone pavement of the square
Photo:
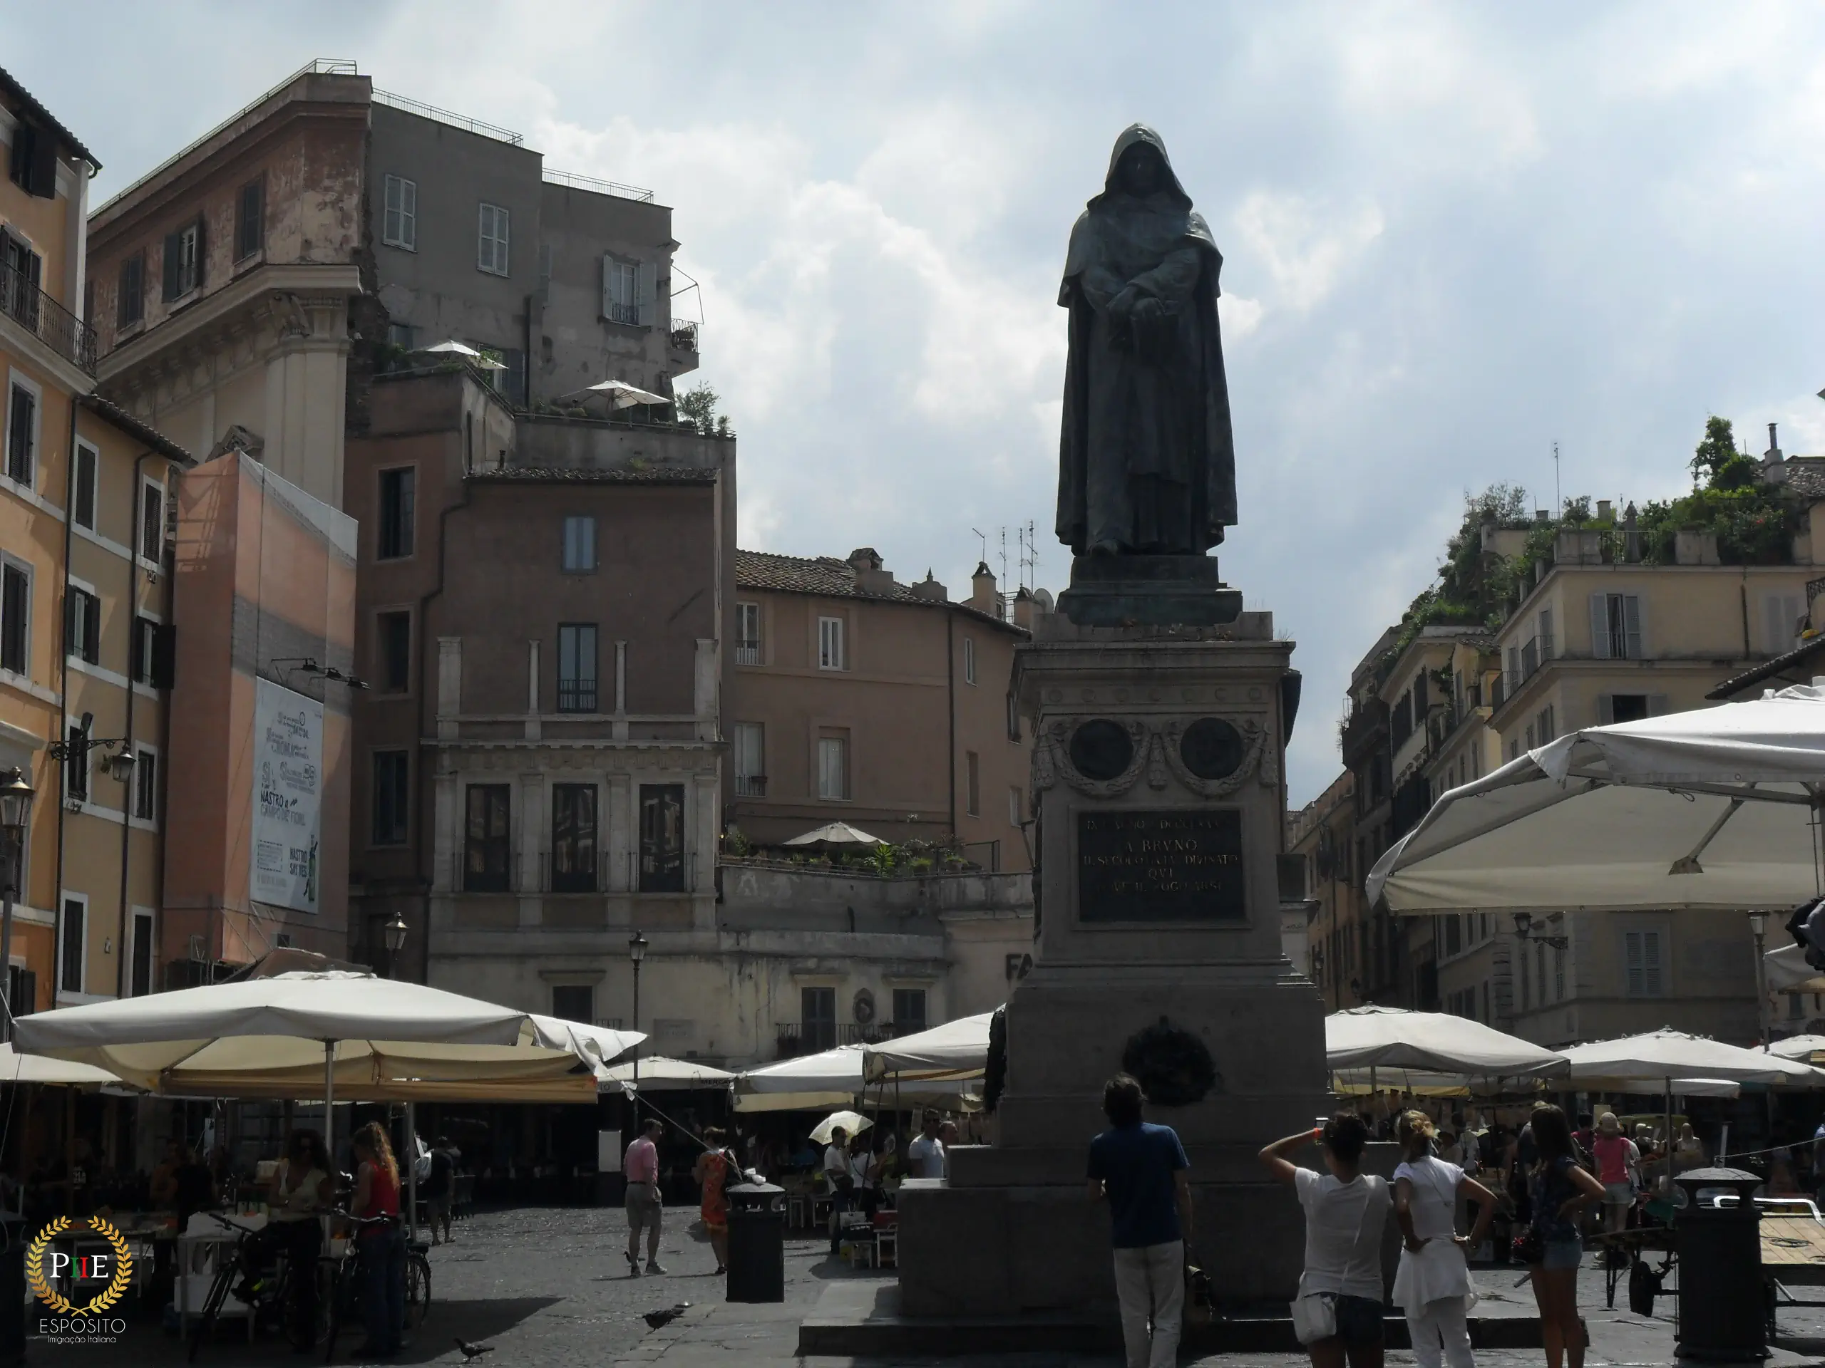
[[[462,1363],[454,1339],[487,1342],[495,1352],[482,1368],[569,1368],[571,1364],[626,1364],[626,1368],[772,1368],[796,1363],[798,1322],[810,1313],[832,1279],[876,1279],[825,1259],[821,1240],[788,1240],[787,1301],[783,1306],[734,1306],[723,1301],[723,1280],[712,1275],[715,1259],[694,1229],[694,1211],[668,1211],[661,1244],[662,1277],[630,1279],[622,1249],[626,1220],[619,1209],[524,1207],[484,1213],[456,1226],[456,1242],[431,1253],[433,1306],[425,1326],[394,1363]],[[891,1277],[885,1275],[885,1277]],[[1517,1295],[1511,1271],[1478,1271],[1489,1293]],[[1524,1295],[1522,1288],[1518,1295]],[[1593,1368],[1608,1364],[1672,1364],[1672,1301],[1646,1321],[1602,1306],[1602,1275],[1586,1270],[1580,1306],[1591,1328]],[[1825,1297],[1821,1297],[1825,1301]],[[690,1310],[672,1324],[648,1330],[642,1315],[677,1302]],[[360,1335],[341,1341],[338,1363],[350,1363]],[[1781,1344],[1770,1364],[1825,1368],[1825,1310],[1788,1310],[1781,1315]],[[49,1344],[35,1341],[35,1364],[122,1364],[162,1368],[181,1364],[175,1335],[155,1324],[133,1322],[115,1344]],[[197,1357],[199,1368],[276,1368],[319,1363],[292,1355],[281,1342],[248,1346],[237,1330]],[[1413,1363],[1391,1352],[1389,1364]],[[951,1359],[810,1359],[805,1368],[1090,1368],[1115,1363],[1110,1355],[967,1355]],[[1303,1355],[1230,1355],[1203,1359],[1206,1368],[1290,1368]],[[1542,1364],[1538,1350],[1496,1350],[1476,1355],[1482,1368]]]

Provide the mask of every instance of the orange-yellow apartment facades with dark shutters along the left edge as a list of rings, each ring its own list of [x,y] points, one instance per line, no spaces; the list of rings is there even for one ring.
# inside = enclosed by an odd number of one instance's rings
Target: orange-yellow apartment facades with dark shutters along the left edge
[[[35,790],[15,1010],[148,992],[170,757],[166,513],[190,454],[95,392],[99,162],[0,71],[0,766]]]

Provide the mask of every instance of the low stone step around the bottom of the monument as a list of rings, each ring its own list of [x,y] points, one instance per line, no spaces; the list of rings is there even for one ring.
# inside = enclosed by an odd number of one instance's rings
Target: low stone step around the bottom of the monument
[[[1531,1304],[1484,1301],[1469,1317],[1478,1350],[1537,1350],[1540,1319]],[[1389,1315],[1387,1346],[1411,1348],[1407,1321]],[[816,1310],[799,1322],[799,1355],[832,1357],[949,1357],[980,1353],[1115,1352],[1122,1332],[1113,1313],[1037,1311],[1029,1315],[907,1315],[900,1284],[878,1280],[832,1282]],[[1208,1322],[1186,1322],[1179,1350],[1206,1353],[1299,1353],[1285,1306],[1219,1308]]]

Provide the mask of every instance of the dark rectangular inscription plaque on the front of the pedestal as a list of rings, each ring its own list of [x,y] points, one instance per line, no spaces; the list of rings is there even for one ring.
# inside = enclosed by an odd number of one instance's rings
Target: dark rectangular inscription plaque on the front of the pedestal
[[[1237,808],[1077,814],[1079,921],[1248,916]]]

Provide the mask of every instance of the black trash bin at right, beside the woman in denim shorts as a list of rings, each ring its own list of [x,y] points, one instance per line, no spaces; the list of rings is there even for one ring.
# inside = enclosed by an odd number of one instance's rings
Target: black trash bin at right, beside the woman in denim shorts
[[[1741,1363],[1768,1357],[1768,1295],[1761,1277],[1761,1178],[1743,1169],[1690,1169],[1674,1182],[1684,1206],[1679,1233],[1679,1353]],[[1723,1189],[1734,1202],[1701,1206],[1699,1193]],[[1716,1197],[1714,1191],[1706,1191]]]

